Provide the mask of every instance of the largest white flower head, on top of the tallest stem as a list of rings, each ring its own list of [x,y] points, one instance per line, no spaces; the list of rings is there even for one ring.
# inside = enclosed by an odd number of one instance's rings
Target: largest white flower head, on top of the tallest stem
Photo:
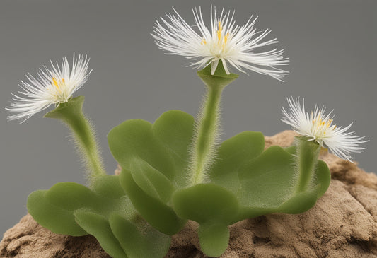
[[[175,11],[175,10],[174,10]],[[228,65],[239,71],[249,69],[260,74],[267,74],[282,81],[288,72],[277,69],[274,66],[286,65],[289,59],[283,58],[284,50],[272,49],[267,52],[255,52],[258,47],[265,47],[277,43],[276,38],[262,41],[271,30],[257,31],[254,28],[253,16],[243,26],[235,25],[234,11],[216,14],[216,8],[211,8],[211,31],[204,25],[202,10],[199,7],[192,10],[194,13],[197,33],[175,11],[175,14],[167,13],[168,21],[161,18],[162,23],[155,23],[152,36],[156,44],[167,54],[178,54],[187,59],[197,59],[192,66],[199,69],[211,64],[211,74],[216,71],[219,60],[222,61],[226,74],[229,74]],[[175,16],[176,15],[176,16]],[[170,21],[170,23],[169,23]],[[166,27],[164,27],[165,25]]]

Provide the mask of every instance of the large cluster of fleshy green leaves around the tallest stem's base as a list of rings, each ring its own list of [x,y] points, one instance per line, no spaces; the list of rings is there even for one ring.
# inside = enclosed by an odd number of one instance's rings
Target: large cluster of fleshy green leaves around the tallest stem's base
[[[206,76],[204,81],[211,79]],[[170,111],[153,125],[124,122],[108,138],[123,167],[122,187],[141,216],[166,234],[178,232],[185,219],[197,221],[200,245],[207,255],[224,252],[227,225],[266,213],[301,213],[328,187],[327,165],[312,159],[308,168],[313,180],[298,191],[297,148],[272,146],[263,151],[264,136],[253,131],[224,141],[208,173],[209,183],[188,187],[193,125],[190,115]],[[305,170],[305,164],[301,168]]]

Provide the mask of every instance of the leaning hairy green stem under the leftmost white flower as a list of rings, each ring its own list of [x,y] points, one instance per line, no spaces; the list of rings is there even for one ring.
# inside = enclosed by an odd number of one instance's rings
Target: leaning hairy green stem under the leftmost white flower
[[[86,158],[86,165],[91,172],[90,177],[106,175],[103,169],[102,159],[98,153],[97,142],[91,124],[83,115],[82,105],[84,98],[72,98],[66,103],[48,112],[45,117],[62,119],[74,133],[80,151]]]

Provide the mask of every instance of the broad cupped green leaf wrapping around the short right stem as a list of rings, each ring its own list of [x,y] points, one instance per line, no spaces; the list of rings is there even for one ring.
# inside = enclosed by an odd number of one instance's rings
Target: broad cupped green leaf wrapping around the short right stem
[[[302,213],[311,209],[330,184],[327,165],[318,160],[314,180],[306,192],[296,192],[296,158],[272,146],[240,170],[240,218],[266,213]]]

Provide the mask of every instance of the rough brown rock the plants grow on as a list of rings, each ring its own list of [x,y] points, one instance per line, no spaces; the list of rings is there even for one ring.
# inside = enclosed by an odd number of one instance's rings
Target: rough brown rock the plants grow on
[[[294,132],[284,131],[266,137],[266,148],[289,146],[292,141]],[[231,225],[230,245],[222,258],[377,258],[377,176],[330,153],[320,158],[329,165],[332,182],[313,209],[298,215],[269,214]],[[174,235],[166,257],[205,257],[199,251],[196,229],[197,224],[190,221]],[[30,215],[4,233],[0,256],[109,257],[95,238],[56,235]]]

